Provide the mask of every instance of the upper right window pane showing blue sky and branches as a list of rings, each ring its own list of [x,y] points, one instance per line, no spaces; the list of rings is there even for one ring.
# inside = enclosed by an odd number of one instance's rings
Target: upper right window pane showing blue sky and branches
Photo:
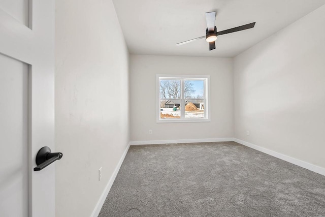
[[[203,80],[184,80],[185,99],[203,99],[204,81]]]

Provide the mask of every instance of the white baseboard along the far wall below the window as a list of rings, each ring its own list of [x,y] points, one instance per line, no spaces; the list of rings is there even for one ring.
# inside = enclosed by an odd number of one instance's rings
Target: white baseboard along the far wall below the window
[[[234,141],[234,138],[148,140],[148,141],[131,141],[131,145],[156,145],[156,144],[170,144],[170,143],[231,142],[231,141]]]

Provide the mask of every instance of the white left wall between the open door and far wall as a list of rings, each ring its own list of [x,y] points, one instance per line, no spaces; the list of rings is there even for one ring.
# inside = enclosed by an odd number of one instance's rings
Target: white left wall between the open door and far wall
[[[129,56],[112,2],[57,0],[55,43],[55,216],[89,217],[129,143]]]

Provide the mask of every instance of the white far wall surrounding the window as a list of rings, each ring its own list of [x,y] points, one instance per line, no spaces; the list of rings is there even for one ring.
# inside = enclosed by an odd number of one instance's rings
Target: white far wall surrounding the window
[[[131,55],[130,66],[133,142],[234,136],[231,58]],[[156,74],[210,75],[211,122],[156,123]]]

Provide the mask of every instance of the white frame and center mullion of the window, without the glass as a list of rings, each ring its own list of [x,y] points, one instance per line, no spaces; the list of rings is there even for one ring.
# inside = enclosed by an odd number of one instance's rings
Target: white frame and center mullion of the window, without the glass
[[[160,79],[179,79],[181,80],[181,117],[180,118],[160,118]],[[204,117],[203,118],[185,118],[185,100],[184,99],[184,80],[204,80]],[[177,123],[177,122],[208,122],[210,118],[210,75],[156,75],[156,122],[157,123]]]

